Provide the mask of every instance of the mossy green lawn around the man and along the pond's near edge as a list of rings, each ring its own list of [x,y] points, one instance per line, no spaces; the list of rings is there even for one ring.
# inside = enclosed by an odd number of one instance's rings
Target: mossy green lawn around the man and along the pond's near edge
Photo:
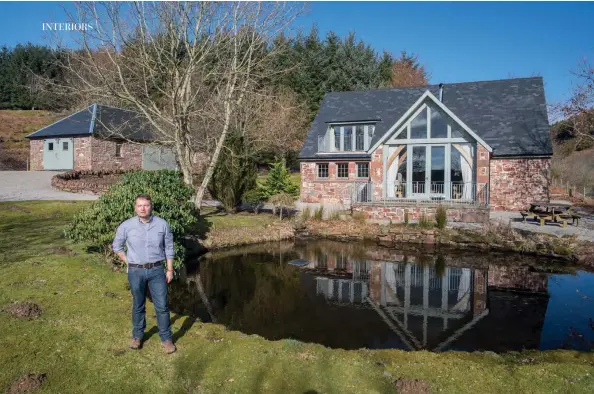
[[[150,303],[150,338],[142,350],[128,350],[126,276],[61,237],[85,204],[0,203],[0,308],[31,301],[44,311],[30,321],[0,312],[0,391],[26,373],[46,373],[40,392],[48,393],[389,393],[398,378],[423,379],[444,393],[593,391],[594,353],[331,350],[175,314],[179,350],[167,356]],[[209,220],[233,225],[227,217]]]

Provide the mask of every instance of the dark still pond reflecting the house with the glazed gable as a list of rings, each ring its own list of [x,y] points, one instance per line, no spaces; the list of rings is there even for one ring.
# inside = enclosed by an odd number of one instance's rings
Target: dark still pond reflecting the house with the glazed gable
[[[548,259],[300,241],[211,253],[174,313],[342,349],[594,348],[594,274]]]

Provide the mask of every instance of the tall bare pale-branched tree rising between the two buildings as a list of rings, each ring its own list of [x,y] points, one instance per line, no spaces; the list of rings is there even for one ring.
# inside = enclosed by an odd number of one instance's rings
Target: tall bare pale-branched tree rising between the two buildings
[[[174,150],[187,184],[196,156],[205,157],[200,208],[231,122],[266,77],[268,44],[297,11],[267,2],[80,3],[71,20],[93,28],[67,52],[64,88],[136,112]]]

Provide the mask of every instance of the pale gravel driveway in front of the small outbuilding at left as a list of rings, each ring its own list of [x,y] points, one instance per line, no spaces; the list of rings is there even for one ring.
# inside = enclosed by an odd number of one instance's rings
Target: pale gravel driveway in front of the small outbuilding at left
[[[52,189],[60,171],[0,171],[0,201],[96,200],[97,196]]]

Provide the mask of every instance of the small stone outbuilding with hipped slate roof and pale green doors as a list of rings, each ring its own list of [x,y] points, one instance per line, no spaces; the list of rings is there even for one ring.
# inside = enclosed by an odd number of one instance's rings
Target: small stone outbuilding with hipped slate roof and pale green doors
[[[39,170],[176,169],[171,149],[155,145],[138,114],[93,104],[27,136]]]

